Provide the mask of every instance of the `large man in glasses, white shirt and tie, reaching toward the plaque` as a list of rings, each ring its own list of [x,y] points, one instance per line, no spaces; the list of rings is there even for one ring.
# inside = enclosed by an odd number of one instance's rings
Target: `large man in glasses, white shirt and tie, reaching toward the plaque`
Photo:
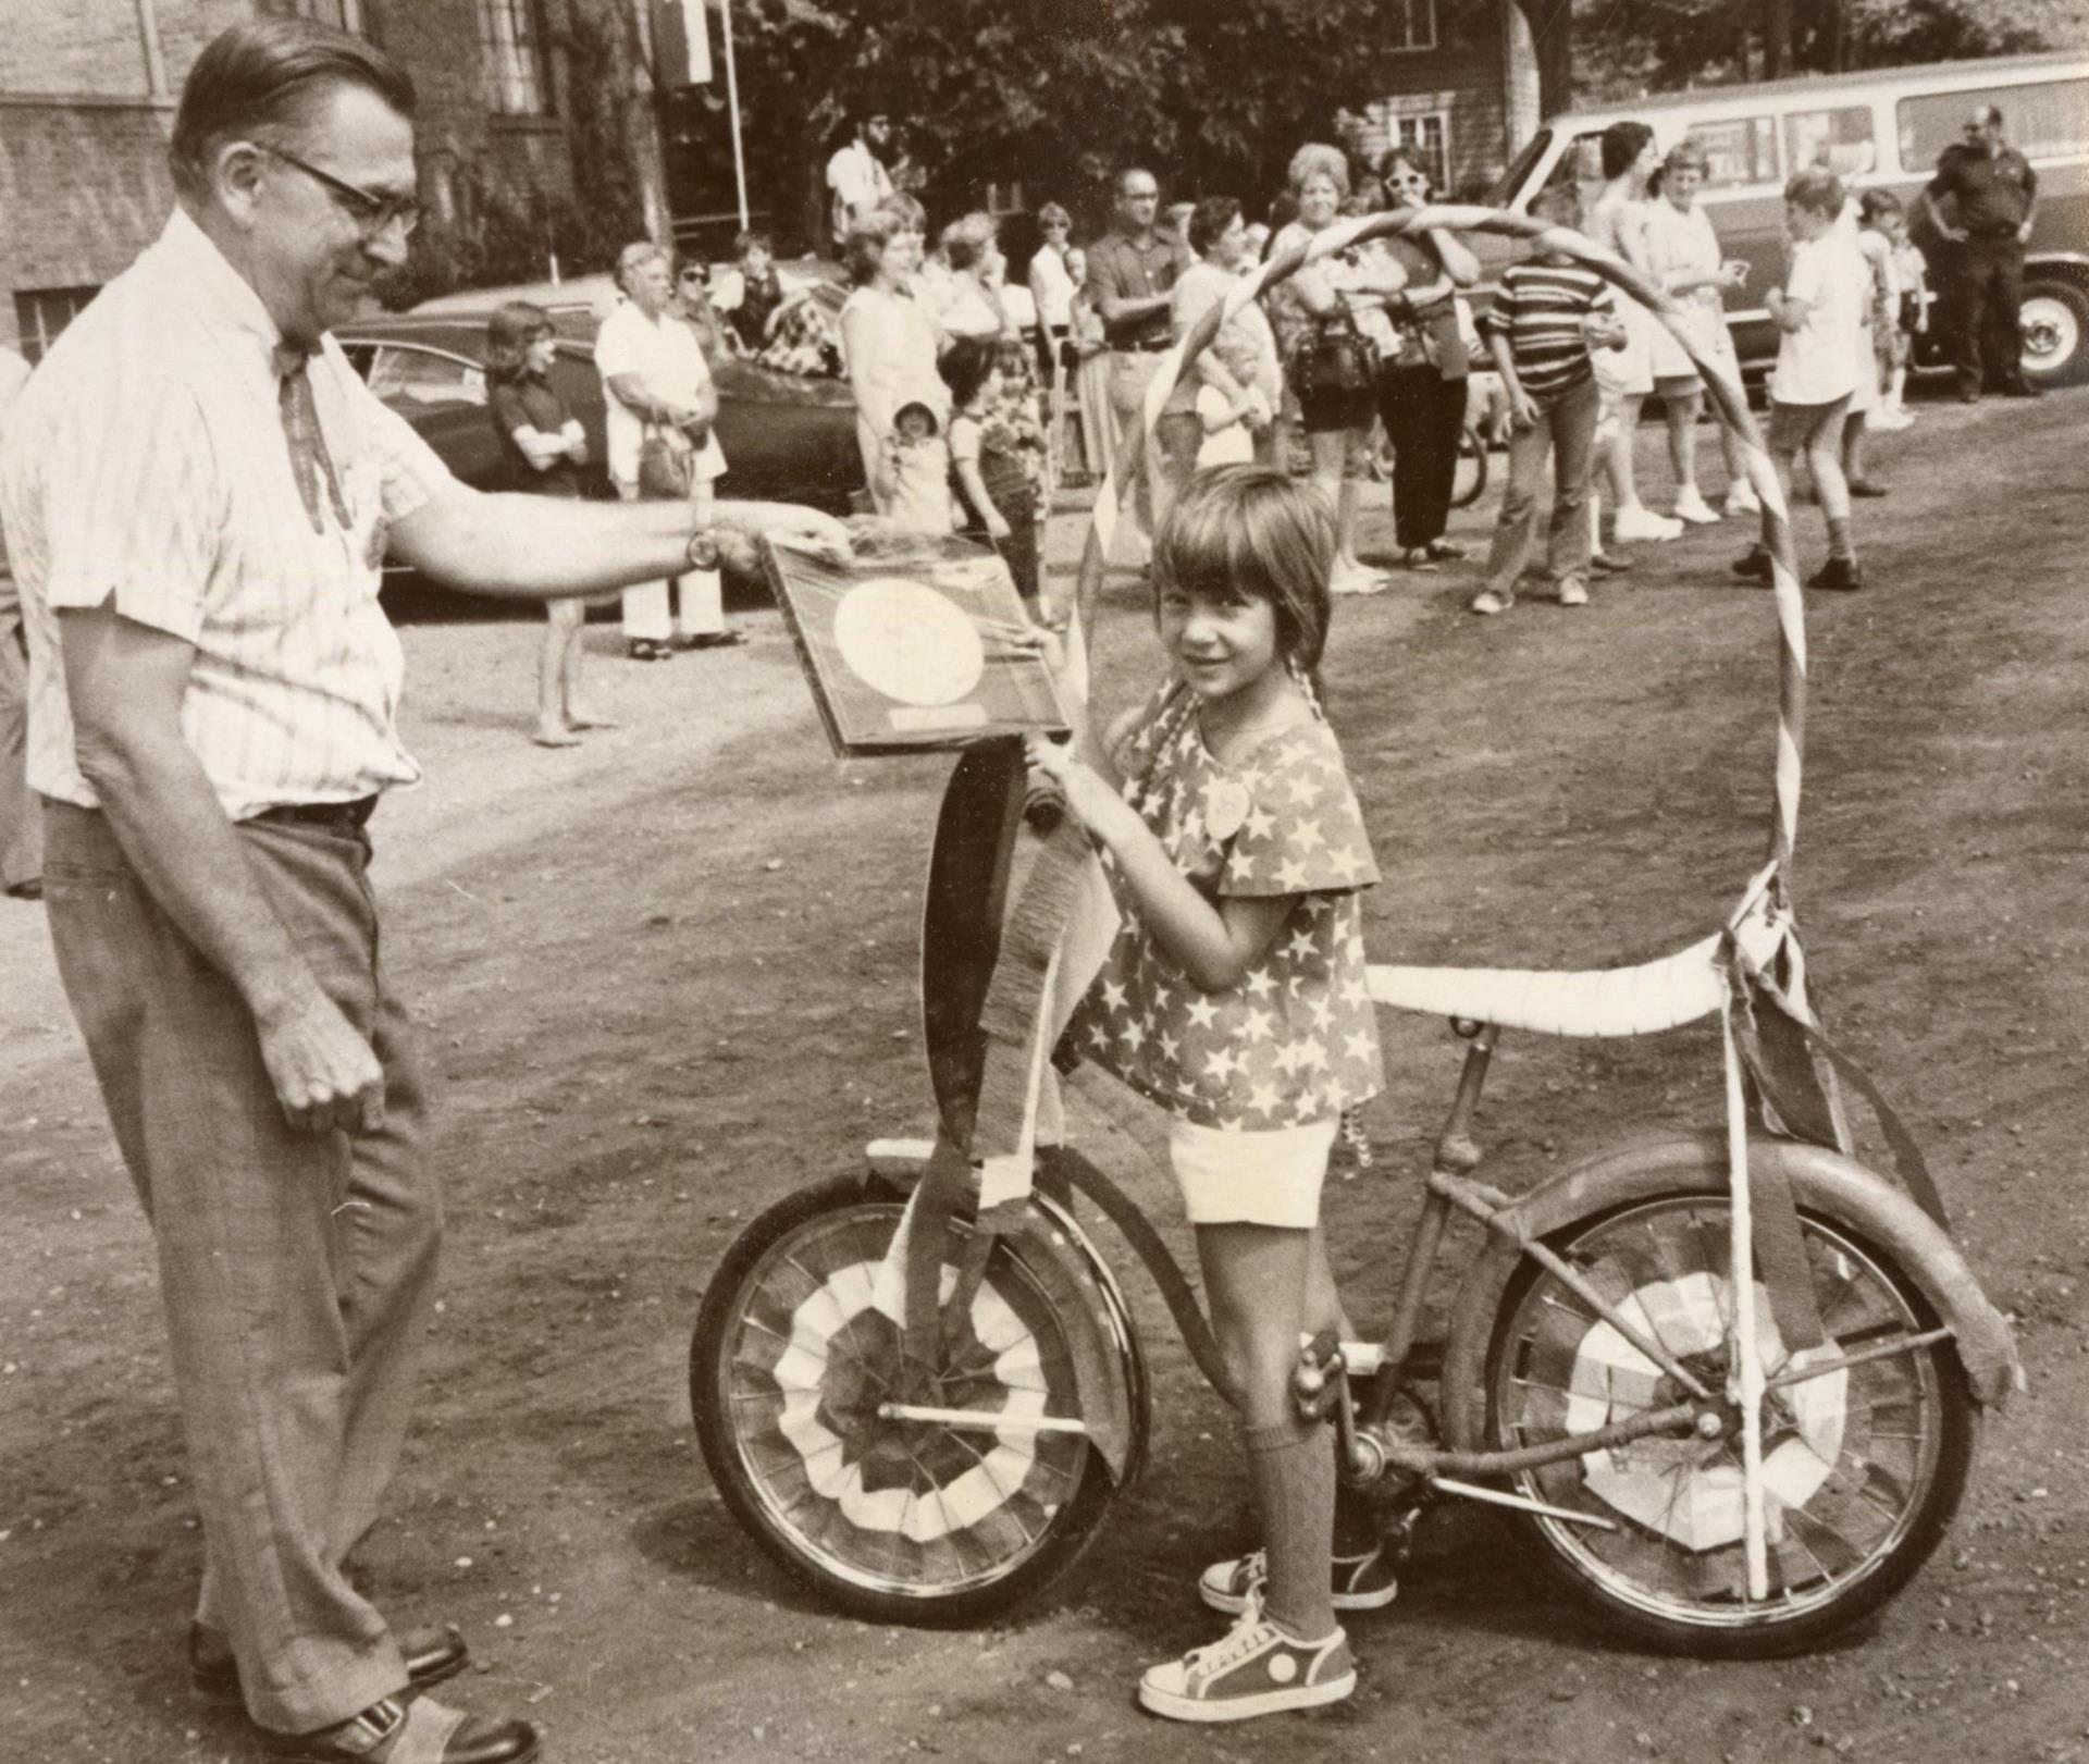
[[[203,1519],[190,1672],[313,1764],[520,1764],[345,1574],[412,1409],[441,1193],[378,957],[370,813],[420,775],[386,546],[524,600],[717,550],[687,504],[480,495],[328,328],[405,257],[414,88],[359,38],[234,25],[173,119],[180,207],[29,380],[0,510],[29,631],[58,972],[152,1223]],[[834,539],[808,510],[721,508]]]

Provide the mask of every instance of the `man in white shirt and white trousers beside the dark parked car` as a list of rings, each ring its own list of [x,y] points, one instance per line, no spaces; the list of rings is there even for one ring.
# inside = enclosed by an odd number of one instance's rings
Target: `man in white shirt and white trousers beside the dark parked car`
[[[694,474],[698,493],[708,493],[725,477],[725,451],[710,433],[719,393],[702,343],[673,309],[668,253],[650,238],[627,245],[616,253],[616,286],[625,297],[595,336],[610,483],[625,502],[637,502],[639,454],[650,433]],[[673,608],[671,594],[679,596]],[[673,581],[627,587],[625,642],[633,660],[666,660],[677,646],[737,644],[737,633],[725,627],[719,573],[687,571]]]

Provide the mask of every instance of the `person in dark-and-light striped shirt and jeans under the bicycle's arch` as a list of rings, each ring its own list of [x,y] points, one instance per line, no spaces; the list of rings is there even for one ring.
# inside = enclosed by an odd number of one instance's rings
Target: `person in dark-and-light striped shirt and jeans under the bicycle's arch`
[[[1573,226],[1579,215],[1575,186],[1552,186],[1533,211],[1552,226]],[[1508,491],[1494,525],[1485,587],[1466,604],[1483,614],[1517,604],[1517,577],[1538,518],[1538,483],[1546,456],[1556,456],[1546,573],[1560,606],[1588,606],[1588,477],[1602,403],[1588,351],[1592,343],[1623,349],[1625,326],[1602,276],[1563,251],[1540,249],[1504,272],[1485,330],[1508,393]]]

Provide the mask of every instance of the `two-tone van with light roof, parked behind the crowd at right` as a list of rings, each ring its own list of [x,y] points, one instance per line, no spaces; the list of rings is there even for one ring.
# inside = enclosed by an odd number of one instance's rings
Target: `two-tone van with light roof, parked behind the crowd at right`
[[[2045,385],[2083,378],[2089,374],[2089,56],[2076,52],[1661,92],[1575,111],[1531,136],[1492,203],[1529,213],[1540,190],[1569,178],[1583,201],[1594,199],[1602,186],[1602,132],[1617,121],[1652,127],[1663,153],[1694,140],[1711,161],[1698,207],[1711,217],[1721,251],[1748,265],[1746,286],[1728,295],[1726,318],[1742,372],[1753,378],[1778,355],[1765,297],[1784,278],[1784,180],[1822,163],[1851,192],[1893,190],[1930,257],[1934,301],[1937,240],[1924,236],[1914,199],[1934,173],[1937,157],[1962,138],[1974,105],[2001,111],[2003,140],[2039,176],[2024,249],[2024,372]],[[1473,245],[1489,274],[1519,249],[1502,238]],[[1918,366],[1943,362],[1939,320],[1949,320],[1949,311],[1932,305]]]

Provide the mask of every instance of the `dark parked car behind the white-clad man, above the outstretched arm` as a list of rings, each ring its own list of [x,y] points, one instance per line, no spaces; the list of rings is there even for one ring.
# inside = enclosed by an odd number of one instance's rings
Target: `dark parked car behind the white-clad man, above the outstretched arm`
[[[570,284],[568,284],[570,286]],[[499,441],[487,416],[487,318],[506,299],[449,299],[439,311],[361,318],[336,328],[370,389],[407,418],[464,483],[503,485]],[[551,385],[587,431],[589,495],[610,495],[604,472],[602,380],[595,374],[593,305],[551,305],[558,359]],[[846,512],[863,489],[856,403],[846,380],[779,374],[752,362],[714,362],[719,445],[727,474],[719,493],[750,502],[804,502]]]

